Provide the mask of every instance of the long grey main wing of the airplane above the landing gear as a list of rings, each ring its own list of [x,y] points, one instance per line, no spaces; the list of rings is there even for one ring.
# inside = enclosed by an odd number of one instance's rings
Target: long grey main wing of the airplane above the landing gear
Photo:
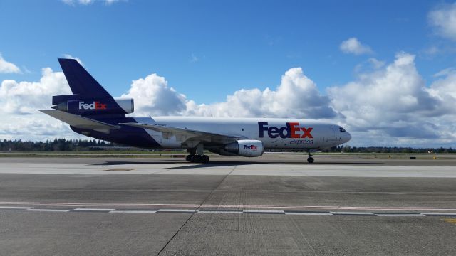
[[[203,132],[195,129],[184,129],[178,127],[165,127],[156,124],[140,124],[140,123],[120,123],[131,127],[138,127],[143,129],[151,129],[156,132],[162,132],[164,138],[176,136],[181,142],[187,140],[197,140],[205,142],[213,142],[215,144],[227,144],[229,142],[235,142],[238,139],[247,139],[240,136],[232,136],[227,134],[217,134],[213,132]]]

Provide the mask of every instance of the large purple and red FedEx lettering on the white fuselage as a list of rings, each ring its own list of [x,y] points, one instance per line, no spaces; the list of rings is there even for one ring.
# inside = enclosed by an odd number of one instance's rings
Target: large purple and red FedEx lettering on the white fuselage
[[[314,138],[311,134],[312,127],[299,127],[298,122],[286,122],[285,127],[268,127],[267,122],[258,122],[259,137],[263,138],[264,134],[267,133],[269,138],[281,137],[286,138]]]

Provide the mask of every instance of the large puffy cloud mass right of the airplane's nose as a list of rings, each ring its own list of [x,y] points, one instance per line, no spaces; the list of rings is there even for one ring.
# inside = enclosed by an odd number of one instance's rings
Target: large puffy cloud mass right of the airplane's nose
[[[346,85],[331,87],[328,95],[348,129],[370,135],[363,138],[363,144],[373,137],[391,143],[397,138],[415,144],[423,144],[427,139],[454,142],[454,125],[447,118],[455,114],[450,109],[456,92],[453,75],[446,74],[427,87],[415,67],[415,55],[398,53],[385,68],[360,74]]]

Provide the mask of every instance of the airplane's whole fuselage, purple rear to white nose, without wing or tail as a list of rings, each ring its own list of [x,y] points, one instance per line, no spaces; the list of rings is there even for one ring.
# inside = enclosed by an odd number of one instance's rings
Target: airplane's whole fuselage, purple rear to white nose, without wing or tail
[[[105,120],[105,122],[118,124]],[[264,149],[323,149],[348,142],[351,135],[337,124],[306,119],[235,118],[235,117],[126,117],[123,122],[153,124],[201,132],[225,134],[262,142]],[[75,132],[110,142],[147,148],[190,149],[179,134],[166,134],[151,129],[120,126],[109,134],[90,129]],[[210,148],[211,144],[206,143]]]

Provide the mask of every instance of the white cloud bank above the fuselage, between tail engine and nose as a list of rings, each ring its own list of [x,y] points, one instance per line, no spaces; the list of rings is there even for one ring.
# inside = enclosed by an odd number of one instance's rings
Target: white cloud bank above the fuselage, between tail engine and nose
[[[133,81],[128,93],[140,113],[179,114],[209,117],[299,117],[331,118],[336,112],[328,97],[321,95],[314,81],[301,68],[291,68],[282,76],[276,90],[239,90],[225,102],[197,105],[167,85],[156,74]]]

